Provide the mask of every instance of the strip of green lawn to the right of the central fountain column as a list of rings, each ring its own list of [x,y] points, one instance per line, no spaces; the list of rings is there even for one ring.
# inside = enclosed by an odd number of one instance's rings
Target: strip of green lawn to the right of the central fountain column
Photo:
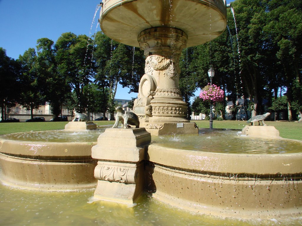
[[[195,122],[199,128],[209,128],[210,126],[210,122],[207,120],[192,120],[191,122]],[[274,126],[277,130],[279,130],[280,137],[302,140],[302,123],[286,121],[265,121],[265,124],[267,124],[268,126]],[[246,123],[246,121],[213,121],[213,128],[217,129],[242,130],[246,125],[249,125]]]

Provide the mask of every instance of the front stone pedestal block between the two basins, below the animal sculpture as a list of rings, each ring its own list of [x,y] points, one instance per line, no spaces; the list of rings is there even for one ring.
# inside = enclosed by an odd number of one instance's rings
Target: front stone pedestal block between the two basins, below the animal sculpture
[[[98,137],[92,147],[92,158],[98,159],[94,197],[133,204],[144,190],[144,160],[151,135],[145,128],[110,128]]]

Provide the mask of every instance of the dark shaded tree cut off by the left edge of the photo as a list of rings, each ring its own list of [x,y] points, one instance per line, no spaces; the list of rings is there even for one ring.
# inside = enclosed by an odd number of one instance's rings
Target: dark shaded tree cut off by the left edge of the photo
[[[19,97],[20,83],[19,65],[6,55],[6,50],[0,47],[0,108],[1,120],[5,119],[5,110],[16,105]]]

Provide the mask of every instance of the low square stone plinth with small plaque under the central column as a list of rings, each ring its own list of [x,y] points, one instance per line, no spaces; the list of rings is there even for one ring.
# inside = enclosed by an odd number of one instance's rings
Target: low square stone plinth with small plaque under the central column
[[[144,127],[152,136],[173,135],[173,134],[198,134],[198,128],[194,122],[168,122],[153,123],[145,122]]]

